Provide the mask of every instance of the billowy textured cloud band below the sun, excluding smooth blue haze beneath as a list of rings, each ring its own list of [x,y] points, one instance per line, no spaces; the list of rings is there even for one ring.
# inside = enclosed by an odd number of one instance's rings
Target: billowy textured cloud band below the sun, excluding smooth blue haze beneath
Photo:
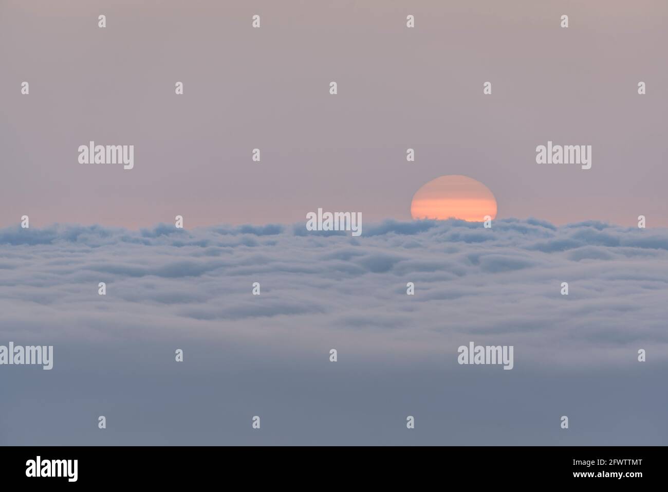
[[[667,230],[596,222],[0,230],[0,336],[35,342],[170,334],[419,359],[474,341],[514,345],[516,366],[631,364],[639,348],[668,358],[667,288]]]

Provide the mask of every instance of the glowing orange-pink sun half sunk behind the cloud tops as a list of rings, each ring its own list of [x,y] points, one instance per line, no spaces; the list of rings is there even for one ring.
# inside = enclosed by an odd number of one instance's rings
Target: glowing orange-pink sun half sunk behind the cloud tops
[[[496,199],[482,182],[468,176],[440,176],[424,184],[411,202],[413,219],[462,219],[482,222],[496,217]]]

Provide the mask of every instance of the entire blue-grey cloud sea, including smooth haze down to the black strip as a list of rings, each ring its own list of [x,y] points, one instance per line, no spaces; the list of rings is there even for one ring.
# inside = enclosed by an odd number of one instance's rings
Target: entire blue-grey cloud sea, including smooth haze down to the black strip
[[[667,229],[594,221],[0,229],[0,344],[54,346],[0,367],[0,443],[554,444],[576,404],[591,435],[564,443],[665,444],[667,289]],[[470,341],[514,369],[458,365]],[[610,434],[634,398],[657,412]]]

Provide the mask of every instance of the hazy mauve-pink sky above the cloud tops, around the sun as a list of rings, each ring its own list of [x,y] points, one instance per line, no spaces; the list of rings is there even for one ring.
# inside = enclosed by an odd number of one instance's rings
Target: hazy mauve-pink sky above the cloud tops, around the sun
[[[665,226],[667,13],[665,0],[3,0],[0,225],[293,223],[317,207],[409,219],[422,184],[464,174],[499,218]],[[78,164],[90,140],[133,144],[134,169]],[[591,170],[536,164],[548,140],[592,145]]]

